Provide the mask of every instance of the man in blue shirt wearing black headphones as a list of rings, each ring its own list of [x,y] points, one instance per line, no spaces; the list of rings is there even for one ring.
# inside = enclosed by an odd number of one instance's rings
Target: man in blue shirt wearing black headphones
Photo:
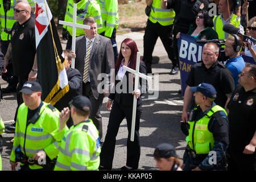
[[[225,56],[229,57],[229,59],[226,60],[226,67],[233,75],[235,86],[238,85],[238,75],[245,67],[245,61],[240,55],[242,44],[243,42],[240,37],[235,34],[229,36],[225,42]]]

